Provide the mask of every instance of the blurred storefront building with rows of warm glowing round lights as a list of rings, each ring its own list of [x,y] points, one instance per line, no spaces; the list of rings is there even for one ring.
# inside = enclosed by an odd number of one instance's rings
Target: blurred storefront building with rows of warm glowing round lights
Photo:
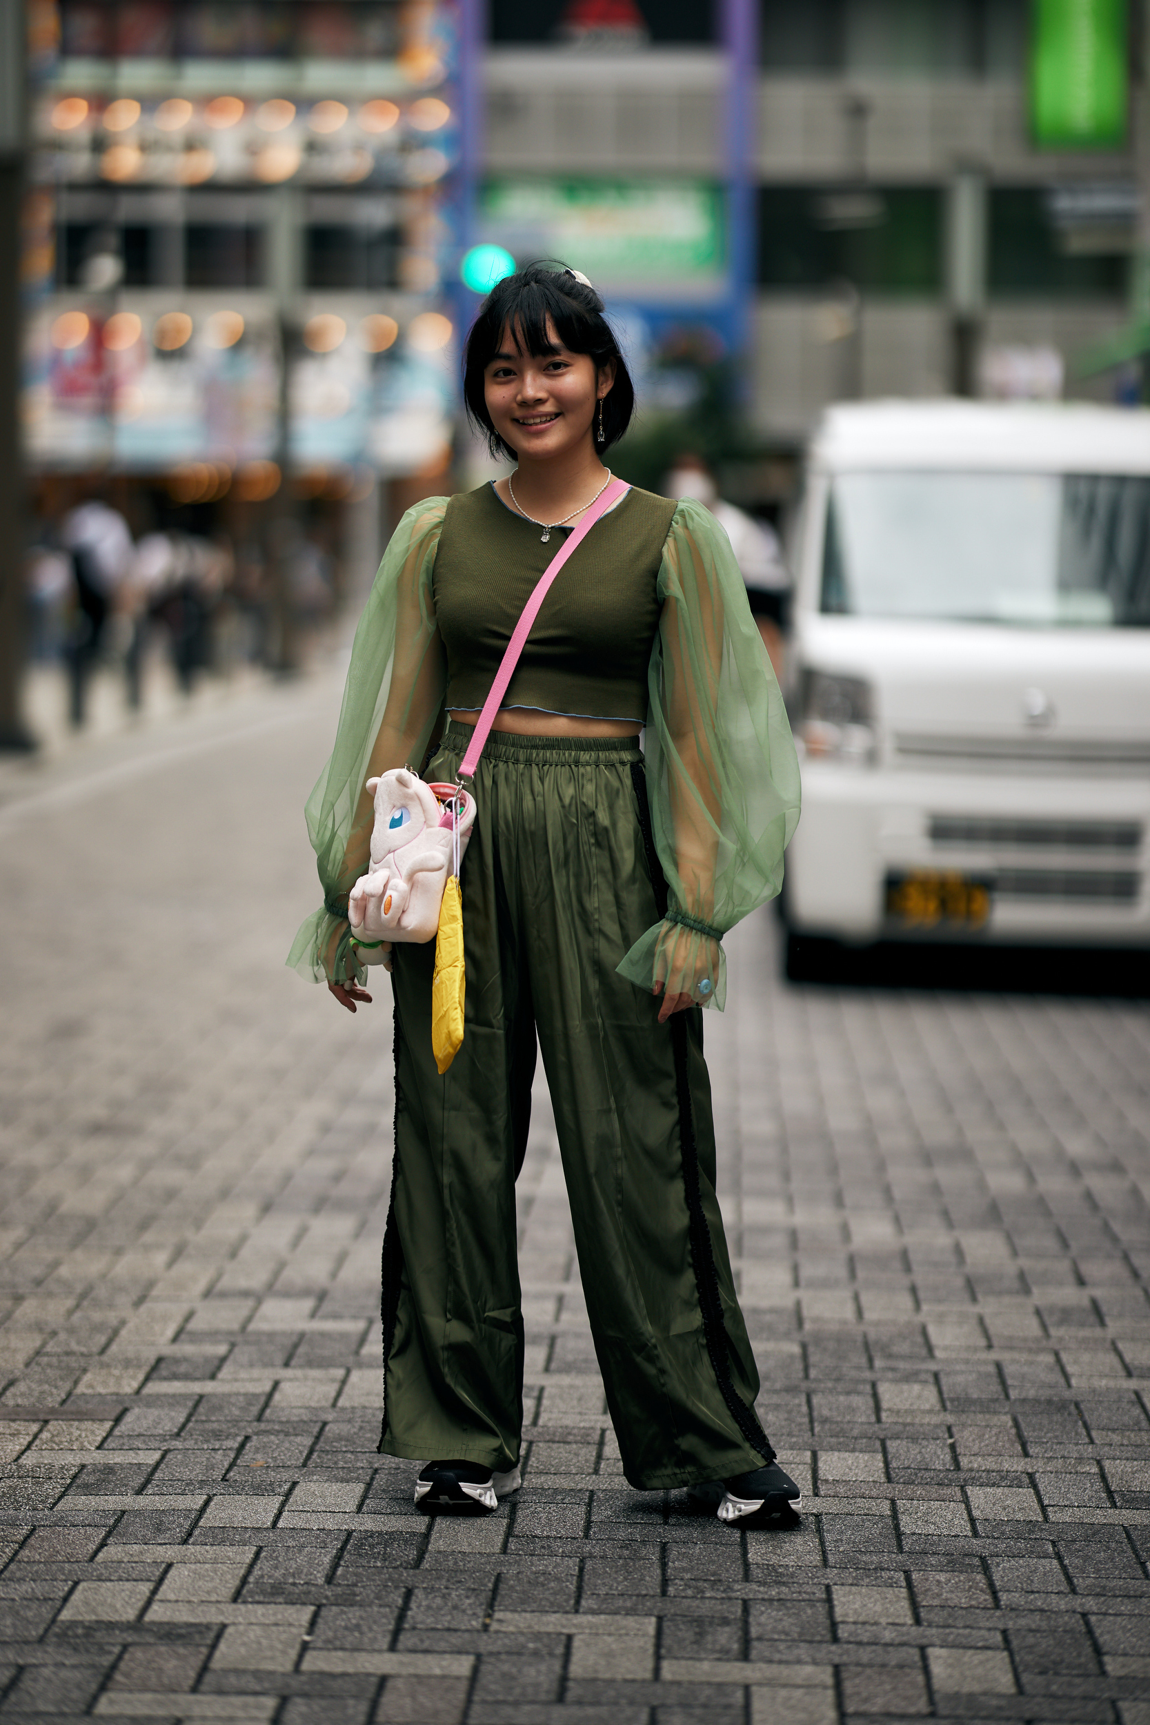
[[[40,536],[103,495],[136,542],[226,543],[288,664],[288,612],[333,609],[397,511],[450,485],[474,3],[33,14]]]

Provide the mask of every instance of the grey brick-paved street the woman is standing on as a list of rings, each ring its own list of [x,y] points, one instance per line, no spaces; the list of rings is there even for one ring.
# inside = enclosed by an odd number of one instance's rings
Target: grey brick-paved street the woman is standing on
[[[0,1722],[1150,1725],[1145,1002],[788,990],[755,919],[709,1037],[802,1521],[626,1487],[543,1094],[526,1485],[426,1521],[374,1452],[388,1007],[281,969],[331,718],[0,807]]]

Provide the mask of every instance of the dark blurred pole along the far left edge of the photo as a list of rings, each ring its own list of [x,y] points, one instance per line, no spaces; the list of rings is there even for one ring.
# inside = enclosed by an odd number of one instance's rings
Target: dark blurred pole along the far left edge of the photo
[[[24,0],[0,0],[0,749],[33,749],[24,676],[24,474],[21,462],[21,205],[24,195]]]

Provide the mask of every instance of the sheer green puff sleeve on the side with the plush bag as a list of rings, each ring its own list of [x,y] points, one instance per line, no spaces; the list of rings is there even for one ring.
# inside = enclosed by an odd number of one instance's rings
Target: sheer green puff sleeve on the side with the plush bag
[[[336,743],[303,809],[324,907],[300,926],[288,964],[314,982],[364,980],[347,923],[347,895],[369,862],[374,809],[364,783],[419,768],[443,711],[431,571],[445,509],[447,497],[428,497],[391,535],[355,630]]]

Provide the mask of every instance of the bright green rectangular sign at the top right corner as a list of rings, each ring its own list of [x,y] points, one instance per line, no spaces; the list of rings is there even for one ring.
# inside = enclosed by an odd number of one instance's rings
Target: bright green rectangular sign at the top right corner
[[[1126,0],[1033,0],[1031,131],[1048,150],[1126,141]]]

